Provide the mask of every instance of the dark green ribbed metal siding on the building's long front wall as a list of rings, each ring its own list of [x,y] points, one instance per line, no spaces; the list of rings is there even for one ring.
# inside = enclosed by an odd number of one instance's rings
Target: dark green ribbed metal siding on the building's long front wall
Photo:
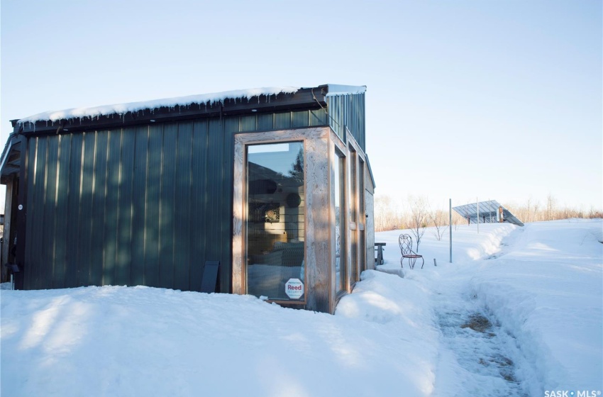
[[[230,291],[234,135],[327,119],[296,111],[29,138],[24,287],[199,291],[205,261],[219,260]]]

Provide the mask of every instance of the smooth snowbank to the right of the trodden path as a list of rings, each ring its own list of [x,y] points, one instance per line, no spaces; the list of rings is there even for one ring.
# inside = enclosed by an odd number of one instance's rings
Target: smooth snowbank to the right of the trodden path
[[[601,230],[600,220],[529,223],[472,279],[548,390],[603,389]]]

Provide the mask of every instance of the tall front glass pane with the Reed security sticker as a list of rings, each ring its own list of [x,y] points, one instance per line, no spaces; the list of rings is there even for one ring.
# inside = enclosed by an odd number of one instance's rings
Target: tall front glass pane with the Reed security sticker
[[[304,301],[304,144],[248,145],[246,158],[247,291]]]

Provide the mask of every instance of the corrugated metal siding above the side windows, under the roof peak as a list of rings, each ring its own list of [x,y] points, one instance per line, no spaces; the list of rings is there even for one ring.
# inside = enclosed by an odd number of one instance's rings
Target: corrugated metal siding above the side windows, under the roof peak
[[[345,141],[345,128],[365,152],[365,94],[327,96],[329,123]]]

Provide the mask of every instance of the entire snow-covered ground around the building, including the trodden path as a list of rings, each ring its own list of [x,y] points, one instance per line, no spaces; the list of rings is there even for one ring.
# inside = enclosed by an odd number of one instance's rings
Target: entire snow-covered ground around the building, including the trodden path
[[[414,270],[400,269],[402,232],[377,233],[382,271],[364,272],[336,315],[147,287],[4,289],[0,392],[600,396],[602,230],[463,225],[450,264],[448,234],[428,229]]]

